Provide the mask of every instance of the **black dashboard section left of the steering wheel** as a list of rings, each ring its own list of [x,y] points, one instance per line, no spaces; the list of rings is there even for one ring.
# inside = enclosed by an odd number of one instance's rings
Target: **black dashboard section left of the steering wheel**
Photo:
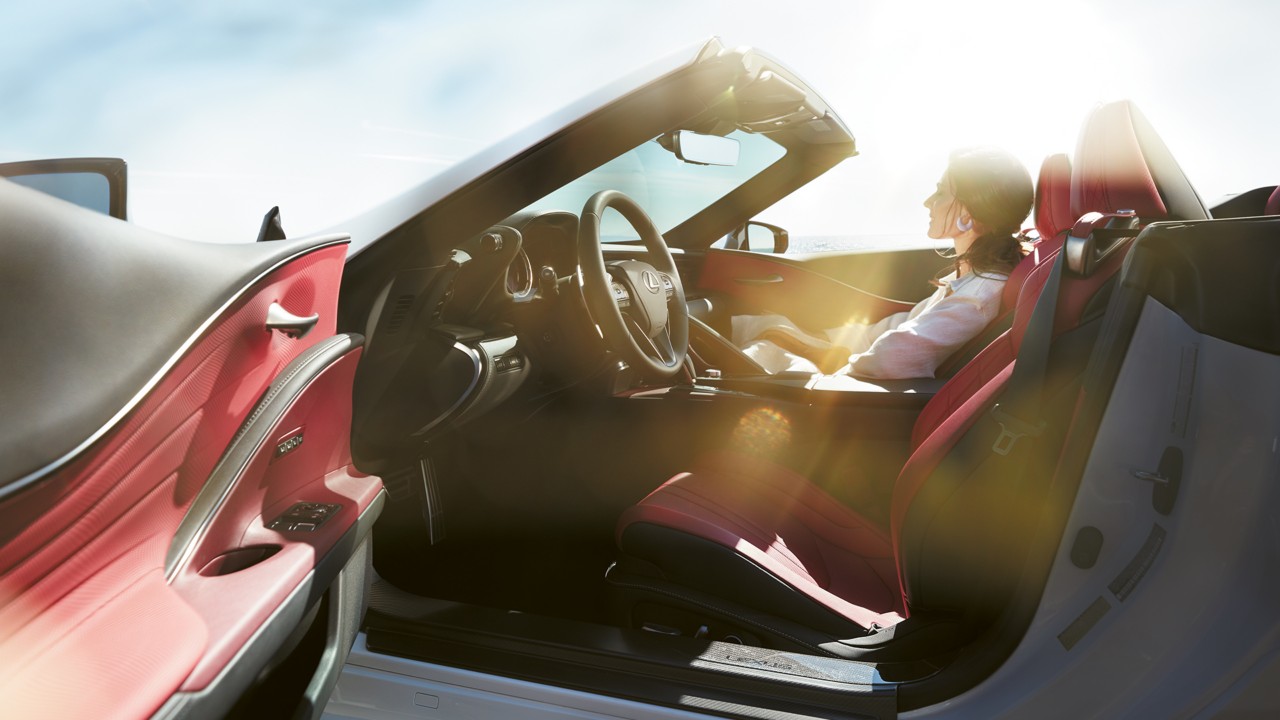
[[[582,355],[576,238],[572,213],[515,217],[385,284],[355,393],[361,455],[417,447]]]

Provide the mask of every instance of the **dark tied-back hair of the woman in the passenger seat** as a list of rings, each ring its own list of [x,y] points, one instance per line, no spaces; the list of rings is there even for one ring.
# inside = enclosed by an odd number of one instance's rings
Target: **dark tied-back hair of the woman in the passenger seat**
[[[951,193],[973,217],[979,237],[956,268],[968,263],[973,272],[1009,273],[1023,258],[1019,232],[1032,210],[1036,191],[1027,168],[998,147],[965,147],[947,164]]]

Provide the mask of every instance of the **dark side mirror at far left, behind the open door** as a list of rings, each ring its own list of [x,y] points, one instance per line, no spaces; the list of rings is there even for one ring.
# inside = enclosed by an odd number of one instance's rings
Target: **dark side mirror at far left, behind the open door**
[[[127,219],[127,165],[119,158],[60,158],[0,164],[0,177],[104,215]]]

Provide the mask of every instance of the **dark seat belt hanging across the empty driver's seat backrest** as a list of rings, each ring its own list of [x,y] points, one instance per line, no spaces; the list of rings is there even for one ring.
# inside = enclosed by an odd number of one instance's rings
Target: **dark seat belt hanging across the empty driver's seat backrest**
[[[992,443],[996,455],[1009,455],[1024,437],[1039,437],[1044,432],[1041,419],[1041,400],[1044,395],[1044,375],[1048,372],[1050,348],[1053,345],[1053,320],[1057,314],[1057,296],[1062,286],[1062,265],[1066,251],[1060,250],[1050,270],[1048,281],[1041,290],[1027,334],[1014,360],[1014,372],[991,416],[1000,423],[1000,436]]]

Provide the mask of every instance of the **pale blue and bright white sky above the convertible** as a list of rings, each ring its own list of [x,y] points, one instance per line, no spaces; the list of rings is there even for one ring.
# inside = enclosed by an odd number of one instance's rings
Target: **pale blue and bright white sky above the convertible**
[[[1206,200],[1280,181],[1280,4],[1219,0],[42,0],[0,9],[0,160],[120,156],[131,217],[248,241],[343,219],[712,36],[805,78],[860,155],[760,215],[923,236],[960,146],[1034,174],[1098,102],[1143,110]]]

